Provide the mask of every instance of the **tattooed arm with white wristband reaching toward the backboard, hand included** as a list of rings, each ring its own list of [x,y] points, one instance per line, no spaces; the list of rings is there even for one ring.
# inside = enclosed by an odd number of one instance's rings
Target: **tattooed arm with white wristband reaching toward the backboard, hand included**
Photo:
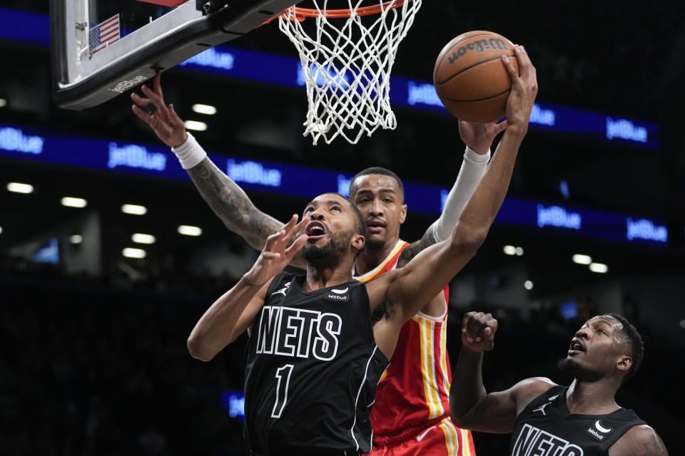
[[[283,227],[283,222],[255,207],[243,189],[221,172],[195,138],[186,132],[173,105],[164,101],[160,75],[155,76],[153,88],[143,85],[141,90],[145,97],[131,93],[131,100],[136,103],[132,106],[133,113],[150,125],[164,144],[172,147],[198,192],[225,227],[261,250],[267,237]],[[151,114],[141,109],[149,105],[154,107]],[[297,255],[293,266],[305,267],[305,261]]]

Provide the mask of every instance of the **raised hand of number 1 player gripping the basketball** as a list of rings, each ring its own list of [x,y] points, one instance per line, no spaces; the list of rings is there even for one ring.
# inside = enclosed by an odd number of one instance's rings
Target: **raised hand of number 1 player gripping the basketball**
[[[514,53],[519,61],[519,73],[507,56],[502,56],[504,68],[512,78],[512,91],[507,100],[507,123],[509,129],[527,132],[530,112],[537,95],[537,71],[523,46],[514,45]]]

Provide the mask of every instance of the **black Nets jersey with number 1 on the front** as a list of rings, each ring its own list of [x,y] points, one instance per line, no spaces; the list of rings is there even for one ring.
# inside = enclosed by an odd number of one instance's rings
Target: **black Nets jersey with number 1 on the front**
[[[265,456],[371,450],[369,412],[388,360],[374,341],[365,284],[316,291],[280,273],[246,352],[245,437]]]

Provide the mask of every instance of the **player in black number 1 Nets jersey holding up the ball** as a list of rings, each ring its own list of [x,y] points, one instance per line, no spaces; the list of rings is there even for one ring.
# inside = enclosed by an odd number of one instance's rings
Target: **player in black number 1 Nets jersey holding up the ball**
[[[502,58],[514,85],[507,130],[450,239],[374,281],[355,281],[362,214],[341,195],[320,195],[302,222],[293,215],[268,238],[252,269],[193,328],[188,349],[203,361],[250,335],[245,437],[253,455],[370,452],[369,411],[400,329],[473,257],[507,193],[537,93],[527,54],[515,52],[520,76]],[[300,251],[306,275],[281,272]]]

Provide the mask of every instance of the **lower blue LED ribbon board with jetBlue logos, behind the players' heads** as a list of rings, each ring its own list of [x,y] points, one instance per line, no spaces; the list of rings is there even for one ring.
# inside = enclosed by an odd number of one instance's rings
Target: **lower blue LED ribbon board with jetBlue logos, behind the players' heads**
[[[544,117],[546,114],[540,115]],[[551,120],[548,114],[547,119]],[[0,124],[0,157],[177,180],[189,179],[168,147],[73,138],[15,125]],[[352,180],[350,175],[333,170],[241,160],[217,154],[209,154],[209,157],[215,163],[225,163],[226,175],[248,190],[305,198],[335,191],[347,195]],[[442,212],[449,195],[448,189],[415,182],[404,184],[405,202],[410,210],[432,215]],[[522,229],[560,230],[584,237],[641,244],[666,245],[669,240],[668,229],[664,223],[656,220],[514,197],[504,199],[495,222]]]

